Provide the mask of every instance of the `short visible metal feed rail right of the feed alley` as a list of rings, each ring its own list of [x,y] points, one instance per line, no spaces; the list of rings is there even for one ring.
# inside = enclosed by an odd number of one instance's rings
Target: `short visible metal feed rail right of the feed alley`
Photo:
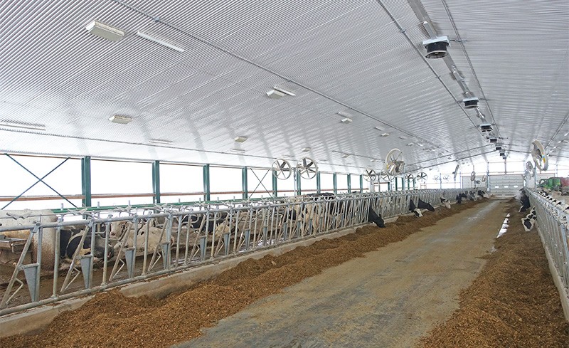
[[[541,241],[555,264],[565,297],[569,295],[569,213],[553,204],[535,189],[526,188],[531,206],[536,209],[538,233]]]

